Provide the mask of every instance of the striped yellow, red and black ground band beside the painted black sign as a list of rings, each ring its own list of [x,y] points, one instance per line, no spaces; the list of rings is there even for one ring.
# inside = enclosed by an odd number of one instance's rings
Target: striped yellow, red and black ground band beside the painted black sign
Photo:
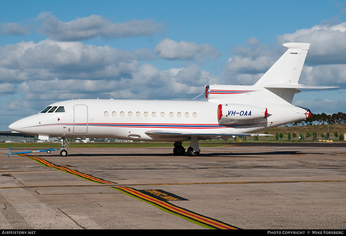
[[[138,190],[134,188],[129,188],[129,187],[111,187],[111,188],[117,189],[120,192],[125,193],[126,195],[137,198],[138,200],[147,202],[163,211],[166,211],[167,213],[179,216],[183,219],[191,221],[192,223],[201,225],[209,229],[240,229],[238,227],[226,224],[222,221],[197,214],[193,211],[190,211],[181,207],[177,207],[171,204],[170,202],[158,200],[149,195],[146,195],[145,193],[139,192]]]

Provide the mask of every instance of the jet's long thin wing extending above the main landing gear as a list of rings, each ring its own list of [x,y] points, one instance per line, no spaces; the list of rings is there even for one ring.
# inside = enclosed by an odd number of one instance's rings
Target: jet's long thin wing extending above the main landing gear
[[[161,130],[148,130],[145,131],[146,135],[154,136],[156,138],[209,138],[209,139],[219,139],[219,138],[230,138],[235,136],[267,136],[273,134],[237,134],[237,133],[191,133],[191,132],[176,132],[176,131],[161,131]]]

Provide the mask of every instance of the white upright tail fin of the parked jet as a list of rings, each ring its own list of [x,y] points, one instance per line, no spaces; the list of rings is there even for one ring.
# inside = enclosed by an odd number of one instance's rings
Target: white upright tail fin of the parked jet
[[[288,50],[256,82],[255,85],[297,84],[310,44],[285,43]]]

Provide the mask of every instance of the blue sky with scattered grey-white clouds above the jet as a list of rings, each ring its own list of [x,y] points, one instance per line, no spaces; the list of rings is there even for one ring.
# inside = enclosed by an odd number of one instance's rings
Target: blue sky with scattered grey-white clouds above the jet
[[[340,86],[292,104],[346,113],[346,2],[2,1],[0,130],[57,101],[253,85],[288,42],[311,43],[300,84]]]

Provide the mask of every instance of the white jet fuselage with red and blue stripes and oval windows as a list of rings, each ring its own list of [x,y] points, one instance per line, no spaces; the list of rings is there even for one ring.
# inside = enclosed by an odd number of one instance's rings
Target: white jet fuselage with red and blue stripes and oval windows
[[[190,133],[252,133],[306,119],[307,109],[291,104],[260,104],[268,116],[261,119],[220,123],[218,101],[150,101],[80,99],[56,102],[64,112],[38,113],[10,125],[17,132],[74,138],[118,138],[140,141],[187,141],[157,138],[146,131]],[[257,104],[258,105],[258,104]],[[49,110],[49,109],[48,109]],[[202,138],[199,138],[202,139]]]

